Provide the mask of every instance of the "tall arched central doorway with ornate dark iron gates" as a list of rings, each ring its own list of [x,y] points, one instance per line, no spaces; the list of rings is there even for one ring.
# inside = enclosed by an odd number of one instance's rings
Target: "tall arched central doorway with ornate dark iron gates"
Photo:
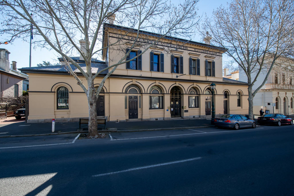
[[[181,116],[181,91],[177,86],[171,89],[171,117]]]

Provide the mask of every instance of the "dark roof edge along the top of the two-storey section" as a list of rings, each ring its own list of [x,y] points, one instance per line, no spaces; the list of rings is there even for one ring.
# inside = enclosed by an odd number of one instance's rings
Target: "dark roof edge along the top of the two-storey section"
[[[124,31],[131,31],[131,32],[134,32],[134,33],[137,33],[137,31],[138,31],[138,29],[132,29],[132,28],[128,28],[128,27],[125,27],[125,26],[119,26],[119,25],[109,24],[109,23],[104,23],[104,27],[109,27],[109,28],[119,29],[119,30],[124,30]],[[104,31],[103,31],[103,33],[104,33]],[[140,30],[139,33],[143,34],[143,35],[154,36],[154,37],[161,37],[162,36],[161,34],[158,34],[158,33],[152,33],[152,32],[149,32],[149,31],[142,31],[142,30]],[[184,43],[195,44],[195,45],[198,45],[198,46],[204,46],[204,47],[208,47],[208,48],[218,49],[218,50],[221,50],[221,51],[227,51],[227,49],[223,48],[223,47],[213,46],[213,45],[210,45],[210,44],[191,41],[191,40],[187,40],[187,39],[181,39],[181,38],[176,38],[176,37],[172,37],[172,36],[165,36],[164,38],[174,40],[174,41],[181,41],[181,42],[184,42]],[[103,36],[103,39],[104,39],[104,36]]]

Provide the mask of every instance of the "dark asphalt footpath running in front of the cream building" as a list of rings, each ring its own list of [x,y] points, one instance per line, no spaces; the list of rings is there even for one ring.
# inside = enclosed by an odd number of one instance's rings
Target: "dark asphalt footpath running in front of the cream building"
[[[177,119],[177,120],[156,120],[156,121],[126,121],[126,122],[106,122],[106,128],[98,125],[100,133],[109,132],[134,132],[134,131],[154,131],[169,129],[192,129],[211,127],[211,120],[206,119]],[[81,126],[78,122],[55,123],[55,132],[52,133],[52,123],[26,123],[24,118],[16,120],[14,117],[0,120],[1,137],[23,137],[35,135],[56,135],[66,133],[87,133],[88,126]]]

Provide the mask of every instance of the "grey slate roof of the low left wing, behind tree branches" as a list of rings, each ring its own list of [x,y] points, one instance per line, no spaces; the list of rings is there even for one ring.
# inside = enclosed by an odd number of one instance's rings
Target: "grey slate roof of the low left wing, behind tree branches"
[[[103,61],[102,61],[103,62]],[[78,64],[81,68],[87,72],[86,63]],[[74,72],[81,73],[76,66],[73,64],[70,65]],[[91,63],[92,73],[97,73],[98,70],[106,68],[107,65],[105,63]],[[26,67],[19,69],[24,73],[33,73],[33,72],[60,72],[60,73],[69,73],[68,69],[65,65],[54,65],[54,66],[41,66],[41,67]],[[107,74],[108,69],[103,71],[101,74]]]

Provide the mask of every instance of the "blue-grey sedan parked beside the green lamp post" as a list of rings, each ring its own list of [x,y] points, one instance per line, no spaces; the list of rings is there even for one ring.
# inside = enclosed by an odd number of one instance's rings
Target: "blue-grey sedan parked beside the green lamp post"
[[[250,120],[240,114],[224,114],[220,118],[215,118],[213,124],[217,127],[229,127],[235,130],[243,127],[256,127],[254,120]]]

